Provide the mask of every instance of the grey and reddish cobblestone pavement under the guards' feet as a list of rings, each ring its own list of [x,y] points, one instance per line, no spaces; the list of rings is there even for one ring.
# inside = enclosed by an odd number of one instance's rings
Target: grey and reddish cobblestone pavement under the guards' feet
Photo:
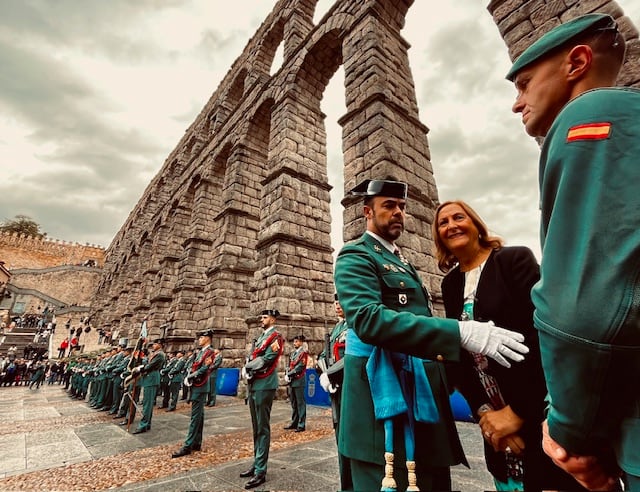
[[[206,409],[203,451],[171,459],[186,435],[189,413],[186,402],[176,412],[156,409],[152,430],[133,435],[58,385],[0,387],[0,491],[244,490],[238,473],[253,454],[249,409],[241,399],[218,396],[218,405]],[[265,487],[337,490],[330,410],[309,405],[304,433],[283,430],[290,414],[287,402],[274,402]],[[491,489],[477,428],[462,422],[458,427],[471,469],[453,469],[454,488]]]

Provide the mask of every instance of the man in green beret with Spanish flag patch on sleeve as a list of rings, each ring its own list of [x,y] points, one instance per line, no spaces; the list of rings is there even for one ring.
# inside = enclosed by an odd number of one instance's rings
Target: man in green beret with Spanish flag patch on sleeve
[[[532,290],[549,391],[543,448],[589,489],[640,490],[640,91],[614,87],[616,21],[542,36],[507,79],[540,157],[542,262]],[[635,62],[637,69],[638,63]]]

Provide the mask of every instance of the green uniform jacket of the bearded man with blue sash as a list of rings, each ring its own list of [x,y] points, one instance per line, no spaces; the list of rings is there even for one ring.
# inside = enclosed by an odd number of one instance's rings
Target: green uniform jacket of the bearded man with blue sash
[[[458,322],[431,317],[429,294],[418,273],[374,237],[365,233],[342,248],[336,260],[335,284],[345,319],[363,342],[423,359],[459,361]],[[339,449],[349,458],[383,464],[384,429],[375,420],[366,362],[366,357],[345,356]],[[416,462],[466,464],[451,414],[444,364],[425,362],[425,370],[440,422],[417,424]],[[400,462],[404,446],[394,448]]]

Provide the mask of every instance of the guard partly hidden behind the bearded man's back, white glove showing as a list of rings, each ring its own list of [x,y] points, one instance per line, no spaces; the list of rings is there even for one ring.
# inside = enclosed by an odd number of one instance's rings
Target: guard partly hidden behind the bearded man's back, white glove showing
[[[347,321],[344,311],[335,294],[335,309],[339,321],[333,327],[331,334],[326,335],[325,348],[318,355],[317,369],[320,373],[320,386],[329,393],[331,399],[331,414],[336,443],[340,434],[340,405],[342,403],[342,380],[344,376],[344,349],[347,341]],[[340,470],[340,490],[352,490],[351,465],[349,458],[338,450],[338,468]]]

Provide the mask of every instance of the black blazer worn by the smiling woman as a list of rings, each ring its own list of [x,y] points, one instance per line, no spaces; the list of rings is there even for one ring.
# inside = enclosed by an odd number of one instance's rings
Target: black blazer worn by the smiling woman
[[[525,441],[525,490],[556,488],[583,490],[562,472],[542,451],[542,428],[547,388],[540,362],[538,334],[533,326],[531,288],[540,278],[540,268],[530,249],[522,246],[503,247],[492,251],[476,289],[473,318],[493,321],[497,326],[522,333],[529,353],[511,368],[489,360],[486,370],[496,378],[507,405],[524,420],[519,434]],[[442,296],[448,318],[460,319],[463,308],[464,273],[456,266],[442,281]],[[463,351],[461,362],[451,371],[453,384],[465,397],[474,417],[488,398],[473,365],[471,355]],[[503,453],[496,453],[485,442],[487,468],[498,479],[506,480]]]

